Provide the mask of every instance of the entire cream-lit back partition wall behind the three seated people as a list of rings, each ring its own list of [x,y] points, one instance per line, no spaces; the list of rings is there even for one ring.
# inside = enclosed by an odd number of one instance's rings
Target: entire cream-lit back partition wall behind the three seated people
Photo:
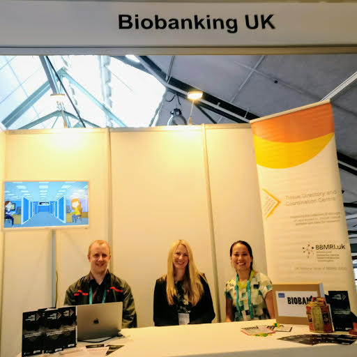
[[[153,325],[155,280],[166,272],[169,245],[178,238],[192,246],[215,310],[220,297],[223,319],[222,291],[234,273],[231,241],[250,241],[257,268],[265,271],[247,126],[18,130],[3,136],[3,179],[89,181],[89,228],[6,231],[1,357],[21,350],[22,312],[52,305],[52,236],[57,305],[63,304],[67,287],[88,273],[89,243],[102,238],[112,243],[112,271],[132,287],[139,326]],[[0,132],[4,146],[3,136]]]

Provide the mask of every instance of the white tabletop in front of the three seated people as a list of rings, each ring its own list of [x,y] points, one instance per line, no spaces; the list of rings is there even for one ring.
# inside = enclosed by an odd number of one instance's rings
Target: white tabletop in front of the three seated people
[[[245,335],[241,328],[273,325],[275,320],[228,322],[167,327],[125,328],[124,337],[105,343],[122,344],[110,357],[356,357],[357,342],[316,344],[314,346],[278,340],[289,335],[310,333],[308,326],[291,325],[291,332],[276,332],[266,337]],[[79,342],[77,347],[88,345]],[[67,350],[69,351],[69,350]],[[56,356],[53,354],[51,356]],[[70,356],[70,354],[68,355]]]

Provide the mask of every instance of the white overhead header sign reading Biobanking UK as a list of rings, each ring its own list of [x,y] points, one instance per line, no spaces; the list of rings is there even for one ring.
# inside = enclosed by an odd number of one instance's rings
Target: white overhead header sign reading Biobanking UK
[[[357,3],[0,1],[0,47],[356,45]]]

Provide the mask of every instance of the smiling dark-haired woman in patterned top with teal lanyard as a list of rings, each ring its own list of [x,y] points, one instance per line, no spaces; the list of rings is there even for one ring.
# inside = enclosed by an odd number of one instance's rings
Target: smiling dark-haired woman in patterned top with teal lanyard
[[[250,245],[236,241],[229,254],[236,278],[226,284],[226,322],[274,319],[271,280],[253,270]]]

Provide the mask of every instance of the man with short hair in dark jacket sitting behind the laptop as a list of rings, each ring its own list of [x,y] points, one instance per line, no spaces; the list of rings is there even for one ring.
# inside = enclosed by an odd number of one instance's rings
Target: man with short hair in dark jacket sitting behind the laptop
[[[86,305],[123,301],[123,328],[137,327],[134,298],[128,283],[109,273],[110,247],[96,240],[89,245],[88,261],[91,271],[68,287],[64,305]]]

